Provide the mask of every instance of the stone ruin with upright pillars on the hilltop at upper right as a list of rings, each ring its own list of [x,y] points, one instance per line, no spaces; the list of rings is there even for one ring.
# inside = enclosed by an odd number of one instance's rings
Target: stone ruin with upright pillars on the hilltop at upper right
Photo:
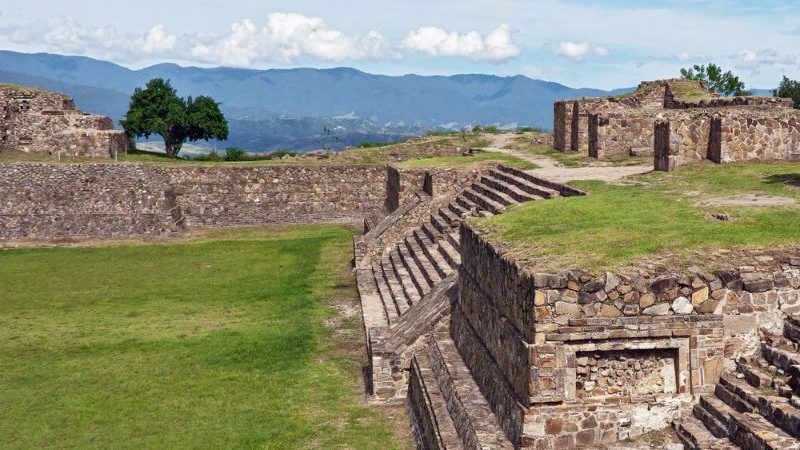
[[[680,98],[689,92],[689,99]],[[654,155],[656,170],[691,162],[800,159],[800,111],[790,99],[720,97],[688,80],[643,82],[620,97],[554,105],[554,145],[594,158]]]

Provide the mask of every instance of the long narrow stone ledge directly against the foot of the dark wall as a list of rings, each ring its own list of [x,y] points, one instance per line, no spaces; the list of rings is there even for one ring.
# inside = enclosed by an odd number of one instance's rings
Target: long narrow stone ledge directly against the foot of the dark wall
[[[450,416],[458,418],[454,424],[463,448],[514,448],[472,378],[447,326],[438,327],[432,333],[427,353]]]

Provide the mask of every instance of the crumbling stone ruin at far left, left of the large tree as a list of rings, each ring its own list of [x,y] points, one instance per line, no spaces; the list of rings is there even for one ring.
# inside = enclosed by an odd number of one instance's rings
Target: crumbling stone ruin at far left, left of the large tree
[[[113,158],[128,146],[110,118],[78,111],[65,95],[0,84],[0,151]]]

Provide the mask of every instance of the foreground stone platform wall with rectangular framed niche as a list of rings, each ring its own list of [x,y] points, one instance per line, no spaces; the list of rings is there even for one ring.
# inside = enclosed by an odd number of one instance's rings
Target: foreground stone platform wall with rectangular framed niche
[[[760,328],[800,311],[791,249],[731,256],[714,271],[538,272],[465,224],[461,250],[453,338],[483,355],[470,368],[509,437],[537,449],[668,426],[681,402],[758,350]]]

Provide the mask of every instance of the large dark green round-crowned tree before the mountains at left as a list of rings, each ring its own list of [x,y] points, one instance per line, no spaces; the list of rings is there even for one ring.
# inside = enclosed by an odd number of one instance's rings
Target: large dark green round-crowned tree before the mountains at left
[[[154,78],[144,89],[136,88],[120,125],[128,137],[164,139],[167,155],[176,158],[186,141],[228,139],[228,121],[211,97],[178,97],[169,80]]]

